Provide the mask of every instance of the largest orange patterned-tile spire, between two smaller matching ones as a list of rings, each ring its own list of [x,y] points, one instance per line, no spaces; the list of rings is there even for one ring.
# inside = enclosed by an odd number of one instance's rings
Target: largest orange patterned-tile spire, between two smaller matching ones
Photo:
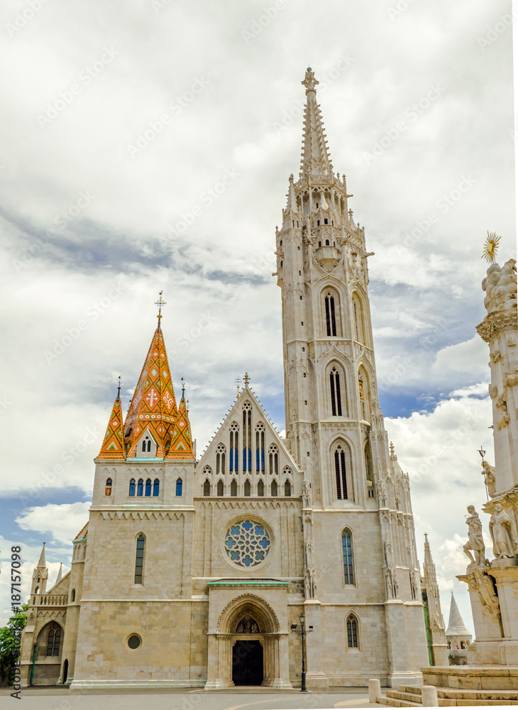
[[[159,320],[124,422],[128,458],[138,455],[137,444],[146,430],[157,444],[157,458],[167,455],[177,414],[175,391]]]

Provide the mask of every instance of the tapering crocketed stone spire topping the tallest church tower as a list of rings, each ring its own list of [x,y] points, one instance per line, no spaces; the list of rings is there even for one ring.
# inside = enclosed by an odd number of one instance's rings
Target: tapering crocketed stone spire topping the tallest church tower
[[[304,136],[302,138],[302,160],[300,177],[304,175],[333,175],[333,165],[329,158],[326,133],[319,104],[316,103],[316,84],[314,71],[307,68],[302,84],[306,87],[306,107],[304,109]]]

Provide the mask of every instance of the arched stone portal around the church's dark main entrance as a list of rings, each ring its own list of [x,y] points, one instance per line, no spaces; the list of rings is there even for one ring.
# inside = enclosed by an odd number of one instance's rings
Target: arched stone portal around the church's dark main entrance
[[[235,597],[221,611],[216,633],[209,633],[206,688],[291,687],[281,670],[287,674],[287,653],[287,632],[281,633],[270,604],[255,594]]]

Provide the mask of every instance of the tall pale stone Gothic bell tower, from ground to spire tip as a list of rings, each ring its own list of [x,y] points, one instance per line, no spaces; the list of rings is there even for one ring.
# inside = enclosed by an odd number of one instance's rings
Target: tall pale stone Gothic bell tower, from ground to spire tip
[[[276,231],[275,274],[286,437],[304,474],[304,609],[314,629],[307,680],[416,682],[427,654],[409,477],[389,452],[368,299],[371,254],[346,177],[331,163],[318,83],[308,68],[302,161]],[[338,670],[322,659],[339,629]]]

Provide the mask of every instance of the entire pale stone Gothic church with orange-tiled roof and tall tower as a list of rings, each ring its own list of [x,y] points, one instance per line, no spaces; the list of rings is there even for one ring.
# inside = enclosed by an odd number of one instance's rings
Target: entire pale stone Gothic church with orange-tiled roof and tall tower
[[[45,550],[35,568],[25,685],[300,687],[302,624],[308,689],[421,680],[409,477],[383,424],[370,254],[318,83],[309,68],[302,163],[275,234],[286,438],[247,374],[197,458],[160,297],[126,417],[117,394],[99,442],[72,568],[49,589]]]

